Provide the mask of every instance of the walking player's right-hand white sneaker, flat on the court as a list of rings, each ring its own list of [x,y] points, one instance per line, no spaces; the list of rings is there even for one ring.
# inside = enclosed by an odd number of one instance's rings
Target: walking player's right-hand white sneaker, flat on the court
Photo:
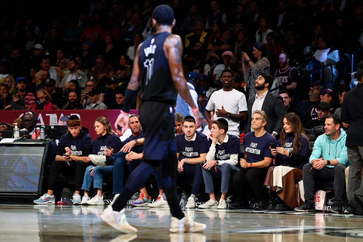
[[[199,232],[204,230],[207,225],[204,223],[197,223],[187,213],[183,212],[185,217],[179,220],[178,218],[171,217],[170,232],[183,233],[183,232]]]

